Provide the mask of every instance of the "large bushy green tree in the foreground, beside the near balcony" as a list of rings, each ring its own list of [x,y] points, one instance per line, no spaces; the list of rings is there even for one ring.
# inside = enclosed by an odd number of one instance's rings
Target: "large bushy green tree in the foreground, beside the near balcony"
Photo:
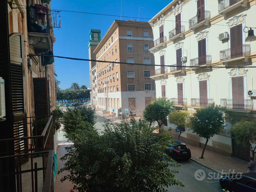
[[[105,123],[99,134],[87,127],[69,134],[74,145],[61,158],[61,181],[70,180],[79,192],[167,192],[169,185],[184,186],[175,178],[180,167],[164,153],[172,136],[153,133],[149,122]],[[163,158],[164,157],[164,158]]]

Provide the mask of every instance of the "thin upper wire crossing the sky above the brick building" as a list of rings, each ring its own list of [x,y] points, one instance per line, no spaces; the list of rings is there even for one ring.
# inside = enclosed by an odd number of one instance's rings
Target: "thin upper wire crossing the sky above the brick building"
[[[12,3],[14,5],[19,5],[19,4],[16,4],[16,3]],[[20,5],[20,6],[24,6],[24,7],[28,7],[28,8],[33,8],[33,7],[29,7],[29,6],[26,6],[26,5]],[[19,7],[14,7],[12,9],[19,9]],[[57,12],[72,12],[72,13],[82,13],[82,14],[93,14],[93,15],[102,15],[102,16],[114,16],[114,17],[120,17],[118,15],[109,15],[109,14],[100,14],[100,13],[90,13],[90,12],[77,12],[77,11],[68,11],[68,10],[59,10],[59,9],[47,9],[49,11],[57,11]],[[122,17],[126,17],[126,18],[130,18],[130,16],[122,16]],[[140,18],[140,19],[147,19],[147,20],[157,20],[157,19],[149,19],[149,18]],[[176,22],[174,20],[164,20],[164,21],[172,21],[172,22]],[[183,23],[191,23],[189,21],[182,21]],[[219,25],[219,26],[228,26],[228,25],[221,25],[221,24],[211,24],[211,25]],[[254,27],[243,27],[243,28],[254,28]],[[256,28],[256,27],[255,27]],[[255,29],[254,28],[254,29]]]

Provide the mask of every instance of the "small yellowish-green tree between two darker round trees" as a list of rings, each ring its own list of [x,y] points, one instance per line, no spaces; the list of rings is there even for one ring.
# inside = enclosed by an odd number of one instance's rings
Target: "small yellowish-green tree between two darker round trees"
[[[190,123],[190,114],[188,111],[172,111],[169,115],[169,123],[175,124],[180,128],[179,136],[186,131]]]

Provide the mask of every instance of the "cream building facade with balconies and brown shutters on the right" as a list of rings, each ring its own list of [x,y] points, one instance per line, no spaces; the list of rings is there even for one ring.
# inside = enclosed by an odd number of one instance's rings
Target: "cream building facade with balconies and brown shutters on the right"
[[[210,139],[207,148],[245,160],[249,149],[237,146],[229,130],[242,118],[256,119],[256,97],[248,95],[256,89],[256,69],[246,68],[256,66],[256,41],[245,42],[246,27],[256,26],[255,3],[174,0],[149,21],[154,32],[150,51],[161,65],[150,75],[156,97],[168,97],[177,110],[190,113],[213,102],[227,107],[226,128]],[[181,136],[198,146],[206,141],[191,130]]]

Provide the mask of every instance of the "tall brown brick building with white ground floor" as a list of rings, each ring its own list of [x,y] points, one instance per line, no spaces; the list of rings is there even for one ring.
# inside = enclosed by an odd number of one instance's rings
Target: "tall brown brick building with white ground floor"
[[[150,78],[154,54],[149,51],[153,40],[147,22],[115,20],[95,48],[98,108],[117,115],[132,111],[141,116],[154,98],[155,83]],[[119,64],[114,62],[147,65]]]

